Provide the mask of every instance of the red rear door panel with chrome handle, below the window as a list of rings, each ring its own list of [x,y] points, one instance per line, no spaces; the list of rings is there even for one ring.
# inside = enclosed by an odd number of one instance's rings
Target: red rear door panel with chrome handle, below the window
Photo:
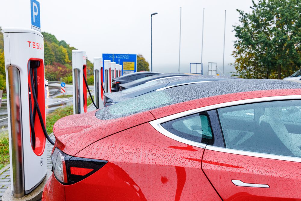
[[[202,168],[223,200],[301,200],[301,163],[205,150]],[[269,188],[236,186],[268,184]]]

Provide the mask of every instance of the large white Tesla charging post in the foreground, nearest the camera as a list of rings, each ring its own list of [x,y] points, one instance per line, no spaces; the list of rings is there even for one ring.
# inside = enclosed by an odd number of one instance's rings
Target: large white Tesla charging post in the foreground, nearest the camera
[[[34,190],[47,173],[41,125],[46,124],[44,41],[43,35],[32,29],[9,28],[3,32],[11,190],[14,197],[22,197]],[[34,94],[39,109],[34,105]],[[40,115],[36,115],[37,110]]]

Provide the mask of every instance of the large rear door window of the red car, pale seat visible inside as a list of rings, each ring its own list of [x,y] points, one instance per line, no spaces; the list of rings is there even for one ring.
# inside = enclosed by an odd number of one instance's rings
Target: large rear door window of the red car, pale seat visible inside
[[[226,148],[301,157],[301,101],[218,109]]]

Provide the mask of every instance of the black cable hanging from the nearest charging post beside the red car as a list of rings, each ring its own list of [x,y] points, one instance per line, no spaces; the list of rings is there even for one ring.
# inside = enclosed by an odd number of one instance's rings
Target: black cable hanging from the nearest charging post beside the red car
[[[31,65],[30,65],[30,68]],[[38,104],[38,98],[37,98],[37,89],[38,89],[38,81],[37,81],[37,67],[33,67],[33,69],[29,69],[29,73],[30,73],[30,83],[31,83],[31,91],[30,91],[30,87],[29,87],[29,91],[30,93],[33,94],[33,102],[34,102],[34,113],[29,115],[29,118],[32,118],[31,121],[30,121],[30,128],[31,128],[31,131],[32,133],[34,132],[34,119],[35,119],[35,116],[36,116],[36,113],[38,113],[38,116],[39,116],[39,120],[40,120],[40,124],[42,126],[42,130],[43,130],[43,133],[44,133],[44,136],[46,137],[46,139],[52,144],[54,145],[54,142],[50,139],[50,137],[48,136],[47,134],[47,131],[45,129],[45,125],[44,125],[44,122],[43,122],[43,118],[42,118],[42,114],[41,114],[41,110],[39,108],[39,104]],[[35,72],[35,80],[33,79],[33,71]],[[35,84],[36,83],[36,84]],[[31,105],[31,94],[29,94],[29,110],[30,110],[30,113],[31,113],[31,109],[32,109],[32,105]],[[35,110],[36,108],[36,110]],[[33,138],[33,134],[32,134],[32,138]],[[35,144],[35,137],[34,137],[34,144]]]

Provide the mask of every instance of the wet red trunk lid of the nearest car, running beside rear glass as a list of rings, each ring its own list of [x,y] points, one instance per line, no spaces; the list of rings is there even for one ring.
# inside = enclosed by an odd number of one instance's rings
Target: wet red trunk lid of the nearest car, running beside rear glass
[[[54,124],[54,147],[57,146],[68,155],[75,155],[97,140],[154,119],[149,111],[109,120],[96,118],[95,111],[70,115]]]

